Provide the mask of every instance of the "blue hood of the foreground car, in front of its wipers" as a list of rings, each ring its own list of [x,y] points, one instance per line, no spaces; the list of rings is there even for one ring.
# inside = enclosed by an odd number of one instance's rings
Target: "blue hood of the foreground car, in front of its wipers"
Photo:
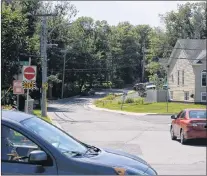
[[[137,156],[111,149],[101,149],[100,154],[97,156],[80,157],[76,159],[82,162],[102,164],[110,167],[131,168],[143,173],[150,167],[146,161]]]

